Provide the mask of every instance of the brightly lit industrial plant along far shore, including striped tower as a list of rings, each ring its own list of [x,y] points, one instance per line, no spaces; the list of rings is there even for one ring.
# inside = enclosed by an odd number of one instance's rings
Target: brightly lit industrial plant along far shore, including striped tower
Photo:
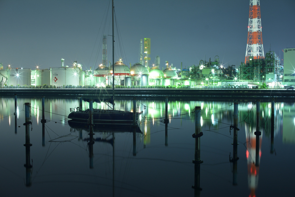
[[[122,59],[111,63],[106,56],[106,35],[102,38],[102,64],[97,68],[83,70],[77,61],[65,66],[61,58],[59,67],[35,70],[26,68],[6,69],[0,64],[0,86],[5,87],[108,87],[114,85],[126,88],[140,87],[189,87],[189,88],[283,88],[295,85],[295,48],[283,49],[284,65],[274,51],[264,54],[262,44],[260,2],[250,0],[248,40],[245,62],[238,65],[223,65],[219,56],[201,60],[196,65],[169,64],[165,61],[165,69],[160,68],[160,56],[156,56],[155,64],[150,63],[151,39],[140,40],[138,62],[127,66]],[[113,74],[114,66],[114,74]]]

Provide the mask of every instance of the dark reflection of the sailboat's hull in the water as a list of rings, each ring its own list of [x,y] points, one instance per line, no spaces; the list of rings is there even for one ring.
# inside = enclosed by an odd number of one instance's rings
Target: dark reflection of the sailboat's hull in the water
[[[73,120],[69,120],[68,124],[71,128],[74,129],[82,129],[87,132],[90,132],[89,124],[83,122],[76,122]],[[135,126],[136,133],[141,133],[140,128],[138,125]],[[134,127],[132,124],[94,124],[93,131],[94,132],[104,132],[104,133],[111,133],[111,132],[133,132]]]

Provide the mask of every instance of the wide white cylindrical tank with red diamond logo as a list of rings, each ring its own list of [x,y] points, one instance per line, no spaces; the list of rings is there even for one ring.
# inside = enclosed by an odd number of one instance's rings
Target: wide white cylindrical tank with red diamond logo
[[[79,85],[79,72],[78,68],[61,67],[50,68],[50,85],[63,86],[63,85]]]

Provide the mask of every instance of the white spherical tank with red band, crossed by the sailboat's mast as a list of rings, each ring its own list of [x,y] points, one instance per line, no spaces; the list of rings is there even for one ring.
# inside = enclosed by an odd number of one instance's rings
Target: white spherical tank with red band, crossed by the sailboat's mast
[[[114,78],[115,78],[115,85],[124,85],[124,79],[125,77],[130,76],[130,69],[128,66],[122,63],[122,61],[118,61],[114,64]],[[110,68],[110,73],[113,74],[113,66]],[[111,83],[112,83],[112,77],[111,77]]]

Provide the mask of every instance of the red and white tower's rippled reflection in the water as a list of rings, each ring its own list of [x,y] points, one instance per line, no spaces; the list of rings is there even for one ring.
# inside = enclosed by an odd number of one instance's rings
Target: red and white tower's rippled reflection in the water
[[[256,166],[256,136],[253,131],[253,127],[250,125],[249,128],[245,128],[246,131],[246,140],[247,142],[247,151],[246,151],[246,157],[247,157],[247,163],[248,163],[248,186],[250,188],[250,195],[249,196],[255,196],[255,189],[258,186],[258,172],[259,172],[259,163],[258,166]],[[261,156],[261,140],[262,135],[260,136],[260,142],[259,142],[259,162],[260,162],[260,156]]]

